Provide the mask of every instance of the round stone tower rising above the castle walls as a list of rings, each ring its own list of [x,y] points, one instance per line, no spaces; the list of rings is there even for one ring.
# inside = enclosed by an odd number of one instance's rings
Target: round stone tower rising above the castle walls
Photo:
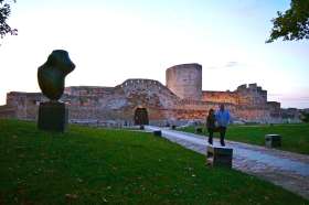
[[[167,69],[167,87],[182,99],[201,100],[202,65],[181,64]]]

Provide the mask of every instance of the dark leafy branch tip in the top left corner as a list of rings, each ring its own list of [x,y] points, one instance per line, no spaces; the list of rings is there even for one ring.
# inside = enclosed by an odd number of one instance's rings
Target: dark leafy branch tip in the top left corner
[[[15,2],[15,0],[13,0]],[[7,20],[11,14],[11,7],[6,0],[0,0],[0,37],[3,39],[4,35],[11,34],[17,35],[18,30],[12,29],[8,23]]]

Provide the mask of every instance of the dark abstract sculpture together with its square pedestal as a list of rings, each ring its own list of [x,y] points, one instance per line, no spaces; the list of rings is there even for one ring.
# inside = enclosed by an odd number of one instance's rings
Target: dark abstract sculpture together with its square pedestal
[[[57,101],[63,95],[65,76],[75,68],[63,50],[55,50],[47,62],[38,69],[38,80],[42,93],[51,101],[39,107],[38,128],[47,131],[64,132],[68,121],[68,110],[64,102]]]

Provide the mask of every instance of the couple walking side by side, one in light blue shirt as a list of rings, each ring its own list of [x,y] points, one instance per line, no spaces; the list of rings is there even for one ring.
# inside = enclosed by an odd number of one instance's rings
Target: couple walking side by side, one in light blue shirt
[[[210,109],[209,116],[206,119],[206,128],[209,131],[209,143],[213,144],[213,133],[215,131],[220,132],[220,143],[221,145],[225,145],[224,138],[227,125],[230,122],[230,112],[224,109],[224,105],[220,105],[220,109],[214,112],[213,109]],[[217,127],[216,127],[217,125]]]

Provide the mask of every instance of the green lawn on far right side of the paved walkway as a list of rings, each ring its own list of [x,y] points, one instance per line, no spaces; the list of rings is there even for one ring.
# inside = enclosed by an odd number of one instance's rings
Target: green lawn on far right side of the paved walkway
[[[187,127],[179,130],[194,132],[194,127]],[[264,145],[265,134],[267,133],[278,133],[281,136],[281,148],[278,149],[309,154],[309,123],[274,126],[231,126],[227,129],[226,139]],[[215,133],[214,136],[215,138],[219,138],[219,133]]]

